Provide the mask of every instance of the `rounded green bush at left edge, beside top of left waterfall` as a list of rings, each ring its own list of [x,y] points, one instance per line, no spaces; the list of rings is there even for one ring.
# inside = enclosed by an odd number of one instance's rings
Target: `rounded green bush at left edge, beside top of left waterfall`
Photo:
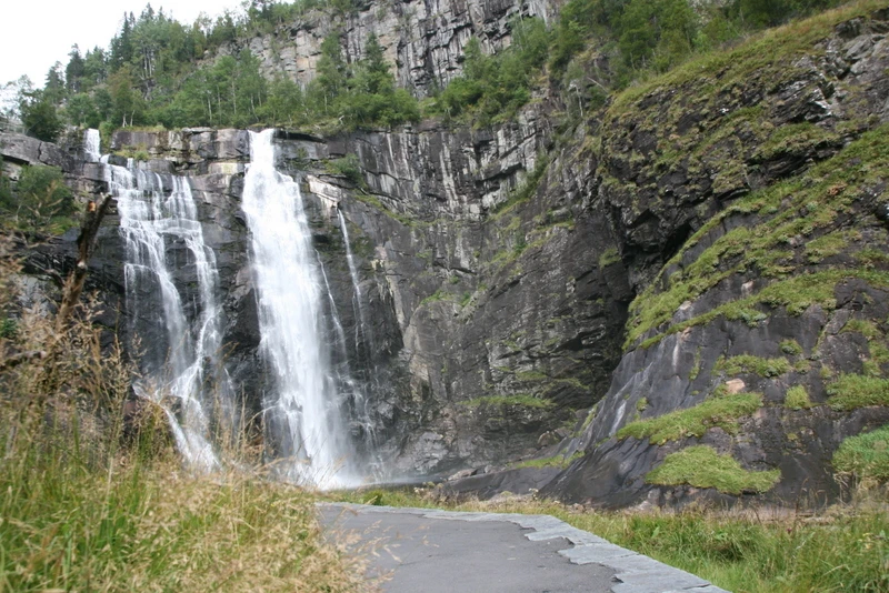
[[[58,167],[23,167],[14,188],[0,191],[7,223],[21,230],[61,233],[76,224],[74,194]]]

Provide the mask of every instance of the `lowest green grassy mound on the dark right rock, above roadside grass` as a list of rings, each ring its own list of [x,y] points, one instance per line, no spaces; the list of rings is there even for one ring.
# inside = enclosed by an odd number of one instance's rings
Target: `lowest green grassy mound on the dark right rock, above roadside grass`
[[[707,445],[689,446],[667,455],[646,475],[649,484],[715,488],[726,494],[766,492],[781,479],[780,470],[750,472],[730,454],[720,455]]]

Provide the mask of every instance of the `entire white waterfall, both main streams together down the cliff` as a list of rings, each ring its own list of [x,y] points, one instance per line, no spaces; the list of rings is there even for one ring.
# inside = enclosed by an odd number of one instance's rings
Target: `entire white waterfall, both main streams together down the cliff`
[[[267,369],[267,461],[280,479],[321,489],[378,481],[383,473],[368,401],[352,376],[349,344],[312,247],[299,184],[274,169],[272,137],[272,130],[250,134],[242,198]],[[100,160],[98,133],[89,130],[83,140],[87,160]],[[238,385],[221,355],[216,258],[204,243],[189,179],[151,172],[131,159],[127,167],[110,164],[107,157],[101,163],[118,201],[126,245],[128,330],[143,372],[134,390],[164,410],[187,465],[216,471],[223,465],[220,434],[231,435],[242,419],[234,403]],[[363,322],[342,218],[340,225],[354,293],[351,345],[354,352],[368,351],[372,335]],[[139,336],[151,336],[150,343]]]

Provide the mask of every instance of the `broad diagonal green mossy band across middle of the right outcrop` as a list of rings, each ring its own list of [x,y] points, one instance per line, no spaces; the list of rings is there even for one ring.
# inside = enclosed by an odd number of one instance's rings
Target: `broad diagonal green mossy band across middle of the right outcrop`
[[[822,253],[811,259],[811,243],[825,237],[845,241],[851,254],[872,249],[847,230],[850,217],[872,204],[871,195],[889,173],[882,155],[889,151],[889,127],[882,125],[856,140],[835,158],[799,178],[753,192],[709,220],[663,268],[670,275],[652,282],[630,305],[629,348],[645,334],[650,346],[665,335],[707,323],[719,315],[756,324],[769,308],[783,305],[799,314],[812,304],[833,309],[835,287],[858,278],[875,287],[889,287],[889,273],[880,267],[849,267]],[[739,221],[725,231],[730,219]],[[837,234],[839,231],[840,234]],[[795,238],[806,238],[805,241]],[[681,265],[688,250],[707,241],[691,263]],[[876,269],[875,269],[876,268]],[[665,274],[665,272],[661,272]],[[758,279],[758,292],[715,306],[701,315],[670,324],[683,302],[695,301],[720,282],[745,274]]]

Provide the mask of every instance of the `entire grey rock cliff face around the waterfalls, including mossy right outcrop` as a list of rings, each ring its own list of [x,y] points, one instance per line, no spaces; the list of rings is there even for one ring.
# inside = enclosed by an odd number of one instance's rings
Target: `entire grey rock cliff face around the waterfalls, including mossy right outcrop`
[[[551,10],[403,2],[344,22],[350,52],[376,32],[399,79],[422,93],[459,72],[470,33],[497,48],[511,14]],[[413,24],[399,26],[409,14]],[[270,72],[304,80],[324,34],[313,18],[250,48]],[[488,130],[278,132],[278,167],[301,180],[353,335],[338,211],[346,217],[371,320],[350,356],[397,473],[469,468],[490,478],[463,491],[547,484],[610,506],[765,490],[652,474],[706,445],[741,474],[779,470],[765,494],[776,501],[839,494],[839,443],[889,421],[885,399],[846,396],[885,389],[889,372],[889,13],[826,31],[767,36],[680,68],[558,138],[546,101]],[[94,163],[22,142],[4,138],[4,158],[58,163],[82,191],[102,189]],[[152,170],[189,177],[217,253],[228,369],[258,410],[239,205],[249,134],[118,132],[112,149],[126,147],[144,148]],[[343,163],[357,167],[331,173]],[[111,218],[93,263],[110,302],[121,253]],[[572,463],[525,481],[521,470],[497,473],[553,454]]]

